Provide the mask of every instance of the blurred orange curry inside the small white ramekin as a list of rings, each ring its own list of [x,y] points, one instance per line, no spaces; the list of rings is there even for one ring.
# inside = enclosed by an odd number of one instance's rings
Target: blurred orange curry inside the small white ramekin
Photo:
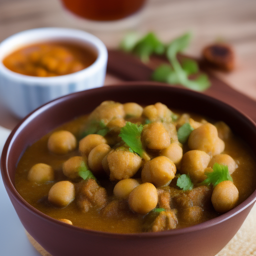
[[[27,45],[10,53],[3,64],[16,73],[57,76],[82,70],[96,60],[96,52],[73,42],[49,41]]]

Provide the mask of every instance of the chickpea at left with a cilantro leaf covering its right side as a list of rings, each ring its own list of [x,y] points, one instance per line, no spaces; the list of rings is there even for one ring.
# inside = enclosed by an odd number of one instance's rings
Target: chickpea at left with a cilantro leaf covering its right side
[[[82,165],[84,159],[81,156],[73,156],[65,161],[62,165],[62,171],[65,176],[71,179],[78,178],[79,167]]]

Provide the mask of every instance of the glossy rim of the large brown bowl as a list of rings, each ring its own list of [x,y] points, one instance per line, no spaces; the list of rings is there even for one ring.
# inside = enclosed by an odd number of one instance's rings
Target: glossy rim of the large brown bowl
[[[154,88],[158,88],[161,87],[169,87],[171,88],[171,90],[175,91],[182,91],[182,93],[185,94],[190,94],[192,97],[199,97],[200,99],[204,98],[207,99],[208,101],[212,102],[213,104],[219,104],[221,105],[221,107],[225,107],[225,108],[229,108],[230,110],[234,111],[236,114],[238,114],[239,116],[243,117],[243,119],[246,119],[247,121],[249,121],[249,123],[254,127],[254,129],[256,130],[256,123],[250,118],[248,117],[246,114],[242,113],[240,110],[238,110],[237,108],[230,106],[229,104],[218,100],[214,97],[205,95],[203,93],[197,92],[197,91],[192,91],[186,88],[182,88],[179,86],[169,86],[168,84],[164,84],[161,82],[151,82],[151,81],[130,81],[130,82],[120,82],[118,84],[114,84],[114,85],[108,85],[108,86],[104,86],[104,87],[100,87],[100,88],[93,88],[93,89],[89,89],[89,90],[84,90],[84,91],[79,91],[79,92],[74,92],[68,95],[64,95],[62,97],[53,99],[45,104],[43,104],[42,106],[36,108],[35,110],[33,110],[31,113],[29,113],[28,115],[26,115],[22,120],[20,120],[20,122],[14,127],[14,129],[11,131],[10,135],[8,136],[4,147],[2,149],[2,155],[1,155],[1,162],[0,162],[0,166],[1,166],[1,174],[2,174],[2,179],[3,179],[3,183],[5,186],[6,190],[9,190],[9,192],[11,193],[12,197],[14,197],[15,200],[17,200],[24,208],[26,208],[26,210],[30,211],[31,213],[39,216],[40,218],[43,218],[47,221],[50,221],[54,224],[60,224],[62,226],[65,226],[67,228],[74,228],[77,231],[80,232],[85,232],[87,234],[94,234],[94,235],[101,235],[101,236],[108,236],[108,237],[116,237],[116,238],[125,238],[125,237],[161,237],[161,236],[172,236],[172,235],[178,235],[178,234],[183,234],[183,233],[188,233],[188,232],[193,232],[193,231],[197,231],[200,229],[204,229],[210,226],[214,226],[216,224],[219,224],[229,218],[231,218],[232,216],[235,216],[236,214],[238,214],[239,212],[241,212],[242,210],[244,210],[245,208],[247,208],[248,206],[250,206],[251,204],[255,203],[256,201],[256,189],[250,194],[250,196],[248,198],[246,198],[243,202],[241,202],[240,204],[238,204],[236,207],[234,207],[233,209],[229,210],[228,212],[225,212],[217,217],[214,217],[210,220],[206,220],[204,222],[201,222],[199,224],[195,224],[189,227],[183,227],[183,228],[179,228],[179,229],[172,229],[172,230],[164,230],[164,231],[160,231],[160,232],[138,232],[138,233],[114,233],[114,232],[106,232],[106,231],[99,231],[99,230],[92,230],[92,229],[87,229],[87,228],[81,228],[81,227],[77,227],[77,226],[73,226],[67,223],[64,223],[60,220],[54,219],[44,213],[42,213],[41,211],[37,210],[36,208],[34,208],[33,206],[31,206],[28,202],[26,202],[21,195],[19,195],[19,193],[16,191],[14,185],[12,184],[8,171],[7,171],[7,160],[8,160],[8,153],[10,151],[11,145],[15,139],[15,137],[19,134],[19,132],[26,126],[27,123],[29,123],[34,117],[36,117],[38,114],[40,114],[40,112],[42,112],[43,110],[50,108],[51,106],[54,106],[57,101],[63,101],[65,98],[71,98],[71,97],[75,97],[77,94],[79,93],[86,93],[86,91],[91,91],[91,90],[111,90],[114,89],[116,87],[119,86],[126,86],[126,87],[136,87],[136,86],[149,86],[149,87],[154,87]],[[101,92],[102,93],[102,92]],[[256,153],[255,153],[256,154]]]

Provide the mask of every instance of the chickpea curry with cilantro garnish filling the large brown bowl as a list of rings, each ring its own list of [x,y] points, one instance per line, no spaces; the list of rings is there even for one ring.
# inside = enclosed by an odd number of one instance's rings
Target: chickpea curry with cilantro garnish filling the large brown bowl
[[[118,233],[194,225],[245,200],[256,162],[222,121],[162,103],[104,101],[26,149],[19,194],[41,212]]]

